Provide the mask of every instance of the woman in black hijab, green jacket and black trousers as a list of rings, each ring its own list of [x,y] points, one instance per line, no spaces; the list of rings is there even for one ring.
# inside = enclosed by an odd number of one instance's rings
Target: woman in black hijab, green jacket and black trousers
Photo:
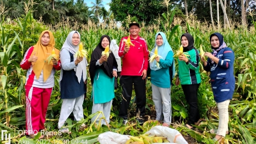
[[[194,47],[193,37],[186,33],[181,36],[181,44],[183,46],[183,52],[187,52],[189,56],[184,54],[179,56],[179,72],[176,78],[175,84],[181,87],[188,102],[189,115],[186,127],[193,129],[191,124],[195,124],[200,118],[199,110],[197,106],[197,91],[201,83],[201,77],[199,73],[199,52]]]

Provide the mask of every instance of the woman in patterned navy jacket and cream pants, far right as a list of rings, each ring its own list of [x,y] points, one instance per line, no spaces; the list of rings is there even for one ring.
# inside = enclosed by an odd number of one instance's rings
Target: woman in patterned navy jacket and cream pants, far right
[[[211,72],[211,86],[214,100],[219,111],[219,126],[214,140],[221,141],[228,133],[228,105],[235,87],[234,52],[228,48],[223,36],[214,33],[210,36],[212,53],[205,53],[207,61],[202,58],[204,70]]]

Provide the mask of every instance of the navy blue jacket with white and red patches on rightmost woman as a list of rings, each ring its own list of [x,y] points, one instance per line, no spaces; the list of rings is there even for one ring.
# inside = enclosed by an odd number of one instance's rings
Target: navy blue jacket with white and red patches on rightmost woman
[[[214,100],[219,103],[232,99],[234,93],[234,52],[226,47],[218,51],[216,57],[219,58],[218,64],[215,62],[212,64],[208,58],[204,70],[211,72],[210,78]]]

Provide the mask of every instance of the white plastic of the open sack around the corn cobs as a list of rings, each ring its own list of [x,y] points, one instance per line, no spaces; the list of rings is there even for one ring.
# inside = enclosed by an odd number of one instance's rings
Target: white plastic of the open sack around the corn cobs
[[[150,135],[164,136],[170,141],[165,144],[187,144],[188,142],[183,138],[181,133],[173,128],[165,126],[154,126],[146,132]],[[101,144],[124,144],[126,140],[130,139],[129,135],[122,135],[115,132],[104,132],[99,134],[98,141]]]

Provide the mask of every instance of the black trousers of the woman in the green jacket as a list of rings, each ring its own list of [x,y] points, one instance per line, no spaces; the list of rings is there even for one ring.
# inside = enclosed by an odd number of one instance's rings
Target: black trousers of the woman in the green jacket
[[[188,114],[188,123],[195,124],[200,119],[200,114],[197,106],[197,91],[199,88],[199,84],[185,84],[181,85],[183,92],[186,97],[186,101],[189,104],[189,114]]]

